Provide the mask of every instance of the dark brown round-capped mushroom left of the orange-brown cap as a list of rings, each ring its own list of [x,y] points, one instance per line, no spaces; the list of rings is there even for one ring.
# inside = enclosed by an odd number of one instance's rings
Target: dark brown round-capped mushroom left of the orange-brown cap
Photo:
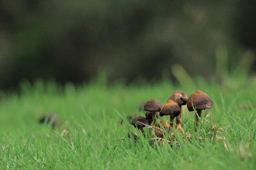
[[[159,112],[161,110],[161,104],[156,99],[150,99],[146,102],[144,105],[144,110],[151,112],[152,117],[152,124],[155,126],[156,120],[155,120],[155,112]]]

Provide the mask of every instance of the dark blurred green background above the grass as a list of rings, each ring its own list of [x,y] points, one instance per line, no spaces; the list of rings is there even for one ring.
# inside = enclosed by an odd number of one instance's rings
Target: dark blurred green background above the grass
[[[255,21],[254,0],[1,0],[0,89],[23,79],[81,83],[101,71],[127,83],[253,73]]]

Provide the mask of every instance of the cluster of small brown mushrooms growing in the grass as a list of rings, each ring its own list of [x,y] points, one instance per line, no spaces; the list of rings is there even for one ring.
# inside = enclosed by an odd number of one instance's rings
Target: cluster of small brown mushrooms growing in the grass
[[[192,93],[189,98],[187,97],[186,93],[183,91],[175,91],[171,97],[168,98],[164,106],[162,107],[161,104],[156,99],[148,100],[144,105],[144,110],[146,111],[146,117],[139,116],[132,120],[132,125],[135,128],[139,129],[139,132],[144,133],[143,128],[146,126],[153,126],[160,128],[166,128],[168,132],[171,130],[170,127],[173,128],[174,118],[176,117],[175,121],[175,128],[177,131],[183,131],[181,126],[182,123],[182,105],[186,105],[189,111],[196,111],[196,130],[199,130],[199,119],[198,117],[201,116],[201,111],[204,109],[209,109],[212,107],[213,102],[211,98],[202,91],[195,91]],[[165,121],[159,121],[157,123],[158,114],[162,116],[170,116],[170,123]],[[161,124],[161,125],[160,125]],[[162,137],[162,136],[161,136]]]

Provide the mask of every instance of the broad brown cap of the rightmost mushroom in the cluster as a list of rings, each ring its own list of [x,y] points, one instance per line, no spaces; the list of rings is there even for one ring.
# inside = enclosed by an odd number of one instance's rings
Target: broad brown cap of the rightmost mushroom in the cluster
[[[206,108],[211,108],[213,105],[211,98],[206,93],[202,91],[195,91],[195,93],[192,93],[189,96],[189,99],[186,104],[189,111],[194,110],[192,106],[192,99],[193,99],[193,105],[195,110],[203,110]]]

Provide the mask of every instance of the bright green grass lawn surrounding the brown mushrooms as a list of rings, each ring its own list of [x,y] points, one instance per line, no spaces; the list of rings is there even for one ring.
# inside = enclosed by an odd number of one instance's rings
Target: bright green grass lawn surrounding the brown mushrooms
[[[256,169],[256,81],[241,76],[225,79],[221,85],[198,78],[195,86],[173,85],[167,80],[129,86],[116,82],[106,86],[106,81],[101,80],[63,87],[37,81],[33,86],[23,83],[19,94],[0,93],[0,146],[5,147],[0,151],[0,168]],[[202,111],[205,119],[200,136],[206,139],[197,140],[193,135],[186,141],[177,137],[172,147],[168,144],[152,147],[152,142],[141,135],[137,143],[128,139],[128,130],[139,132],[130,124],[121,128],[121,116],[144,115],[138,110],[142,101],[155,98],[164,104],[176,90],[188,96],[202,90],[213,100],[213,109]],[[182,126],[185,131],[192,131],[195,115],[186,107],[183,109]],[[212,141],[209,137],[212,129],[207,123],[213,123],[211,112],[221,133]],[[45,113],[58,114],[62,124],[55,130],[50,125],[38,124]],[[64,129],[69,134],[63,137]]]

